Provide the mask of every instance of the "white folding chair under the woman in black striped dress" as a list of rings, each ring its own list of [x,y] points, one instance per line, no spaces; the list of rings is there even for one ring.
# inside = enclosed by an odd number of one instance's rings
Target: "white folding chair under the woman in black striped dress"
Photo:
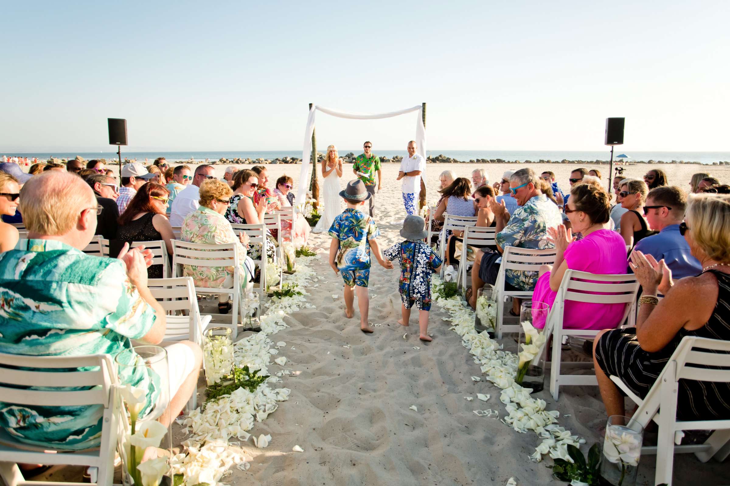
[[[712,368],[707,368],[712,367]],[[642,447],[642,454],[656,454],[654,484],[672,486],[675,452],[694,452],[703,463],[730,455],[730,418],[723,420],[677,420],[679,380],[730,383],[730,342],[707,337],[685,336],[664,366],[645,399],[636,396],[619,377],[610,377],[639,409],[634,413],[642,427],[654,420],[659,428],[656,447]],[[661,414],[658,412],[661,406]],[[714,431],[704,444],[677,445],[683,431]]]

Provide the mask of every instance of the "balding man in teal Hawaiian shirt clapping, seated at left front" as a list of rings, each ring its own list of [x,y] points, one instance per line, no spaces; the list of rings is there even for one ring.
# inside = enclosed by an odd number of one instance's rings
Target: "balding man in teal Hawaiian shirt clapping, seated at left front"
[[[138,357],[131,340],[161,342],[166,316],[147,289],[150,252],[124,248],[118,258],[102,258],[82,251],[93,238],[98,208],[88,185],[66,171],[34,176],[23,187],[20,209],[28,239],[0,259],[6,305],[0,313],[0,353],[108,354],[131,364]],[[196,389],[202,352],[190,341],[166,351],[168,377],[161,379],[152,368],[128,367],[119,378],[147,390],[140,418],[161,409],[159,421],[169,426]],[[169,384],[169,401],[161,401],[160,383]],[[13,406],[12,395],[0,397],[0,427],[28,444],[99,447],[102,420],[101,405],[19,407]]]

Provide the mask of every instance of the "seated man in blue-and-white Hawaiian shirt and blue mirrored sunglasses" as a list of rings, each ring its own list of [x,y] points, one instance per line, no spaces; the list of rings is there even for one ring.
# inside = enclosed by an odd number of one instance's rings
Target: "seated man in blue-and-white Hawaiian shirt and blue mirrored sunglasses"
[[[539,189],[540,179],[531,168],[524,168],[516,171],[510,178],[510,192],[517,200],[520,207],[515,213],[510,214],[504,203],[492,203],[492,211],[496,221],[496,243],[497,251],[480,250],[474,259],[472,270],[472,291],[467,299],[472,308],[476,308],[477,292],[474,289],[481,289],[485,283],[494,285],[502,252],[507,246],[519,248],[553,248],[553,243],[548,240],[548,228],[558,227],[562,218],[558,206],[548,200]],[[500,262],[498,262],[498,260]],[[533,291],[537,283],[537,270],[529,272],[526,270],[507,270],[505,274],[504,288],[512,291]],[[512,313],[519,313],[518,299],[515,299]]]

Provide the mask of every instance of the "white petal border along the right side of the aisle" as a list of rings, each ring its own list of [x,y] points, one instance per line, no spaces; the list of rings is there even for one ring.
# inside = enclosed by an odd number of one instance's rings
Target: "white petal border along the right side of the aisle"
[[[560,412],[545,410],[545,400],[532,398],[530,388],[523,388],[515,383],[518,356],[502,350],[502,345],[491,339],[486,331],[477,333],[474,329],[474,310],[458,295],[442,297],[443,286],[439,276],[433,275],[431,289],[434,302],[449,313],[449,318],[443,319],[453,324],[450,329],[461,336],[461,344],[474,356],[474,362],[480,365],[486,380],[502,388],[499,401],[505,405],[507,412],[502,422],[521,434],[534,431],[543,439],[530,456],[534,462],[541,461],[544,454],[553,459],[561,458],[572,462],[567,452],[568,445],[579,447],[579,444],[585,443],[585,439],[579,439],[564,427],[558,426]],[[480,377],[472,376],[472,380],[480,381]],[[490,415],[483,412],[485,411],[475,410],[477,415]]]

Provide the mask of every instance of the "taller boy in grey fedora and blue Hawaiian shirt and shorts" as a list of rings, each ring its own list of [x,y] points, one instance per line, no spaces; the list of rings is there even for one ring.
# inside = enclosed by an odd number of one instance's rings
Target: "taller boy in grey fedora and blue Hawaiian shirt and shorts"
[[[345,281],[345,315],[351,318],[355,315],[353,302],[358,295],[360,308],[360,329],[362,332],[373,332],[367,324],[368,281],[370,277],[370,247],[372,246],[375,259],[385,268],[393,268],[391,262],[386,262],[380,254],[375,237],[380,235],[371,216],[361,212],[366,200],[371,194],[365,189],[363,181],[356,179],[347,183],[347,188],[339,195],[345,199],[347,208],[338,214],[329,235],[332,237],[329,245],[329,266],[334,273],[341,273]]]

